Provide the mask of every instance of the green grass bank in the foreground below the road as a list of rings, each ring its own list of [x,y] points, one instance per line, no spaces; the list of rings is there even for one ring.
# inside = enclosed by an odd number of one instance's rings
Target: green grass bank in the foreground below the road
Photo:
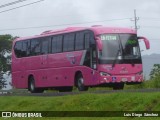
[[[0,99],[3,111],[158,111],[159,93],[109,93]]]

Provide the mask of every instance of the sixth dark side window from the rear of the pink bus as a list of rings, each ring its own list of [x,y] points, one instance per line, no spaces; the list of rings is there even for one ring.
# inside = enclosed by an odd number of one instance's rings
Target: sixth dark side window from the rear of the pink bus
[[[73,51],[74,50],[74,33],[64,35],[63,40],[63,51]]]

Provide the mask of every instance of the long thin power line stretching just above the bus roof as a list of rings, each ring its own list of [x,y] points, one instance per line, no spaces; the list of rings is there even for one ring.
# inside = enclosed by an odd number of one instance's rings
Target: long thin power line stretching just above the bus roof
[[[58,26],[66,26],[66,25],[77,25],[77,24],[86,24],[86,23],[95,23],[95,22],[106,22],[106,21],[117,21],[117,20],[129,20],[129,19],[130,18],[108,19],[108,20],[102,20],[102,21],[86,21],[86,22],[68,23],[68,24],[57,24],[57,25],[47,25],[47,26],[35,26],[35,27],[0,29],[0,31],[21,30],[21,29],[37,29],[37,28],[58,27]]]

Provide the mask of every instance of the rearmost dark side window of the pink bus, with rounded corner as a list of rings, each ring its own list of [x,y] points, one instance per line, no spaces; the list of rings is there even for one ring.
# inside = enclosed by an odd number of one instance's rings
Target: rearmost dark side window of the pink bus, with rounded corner
[[[20,58],[22,55],[22,42],[16,42],[14,47],[16,57]]]

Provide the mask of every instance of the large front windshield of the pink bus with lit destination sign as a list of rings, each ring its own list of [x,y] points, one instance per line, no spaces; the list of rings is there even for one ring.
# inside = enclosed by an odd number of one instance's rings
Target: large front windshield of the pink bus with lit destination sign
[[[141,63],[141,54],[135,34],[103,34],[100,36],[103,49],[100,63]]]

